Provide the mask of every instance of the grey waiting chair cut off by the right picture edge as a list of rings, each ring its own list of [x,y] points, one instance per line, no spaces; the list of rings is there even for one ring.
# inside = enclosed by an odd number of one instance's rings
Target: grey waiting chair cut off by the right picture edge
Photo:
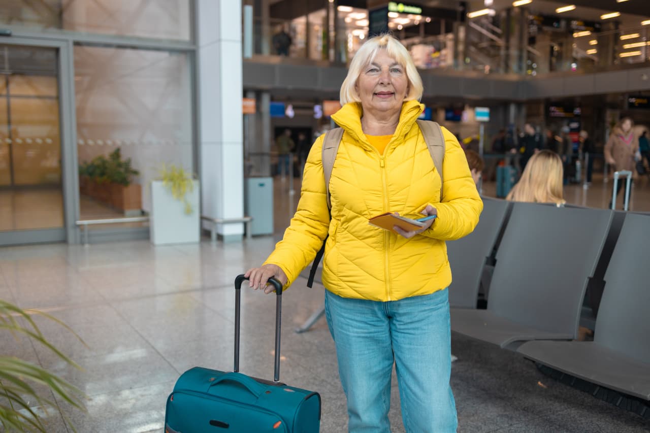
[[[650,216],[628,214],[605,273],[593,341],[530,341],[517,352],[563,373],[650,400]]]

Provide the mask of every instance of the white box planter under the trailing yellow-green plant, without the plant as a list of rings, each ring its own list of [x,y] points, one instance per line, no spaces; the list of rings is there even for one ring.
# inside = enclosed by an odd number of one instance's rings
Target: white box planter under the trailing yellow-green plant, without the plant
[[[162,186],[162,181],[151,182],[149,237],[152,244],[189,244],[200,241],[199,193],[199,183],[194,181],[194,190],[187,194],[192,213],[187,215],[183,202],[176,200]]]

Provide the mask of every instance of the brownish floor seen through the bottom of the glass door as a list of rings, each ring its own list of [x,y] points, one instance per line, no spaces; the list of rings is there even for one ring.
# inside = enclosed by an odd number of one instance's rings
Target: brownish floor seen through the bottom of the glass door
[[[1,189],[0,231],[63,227],[59,189]]]

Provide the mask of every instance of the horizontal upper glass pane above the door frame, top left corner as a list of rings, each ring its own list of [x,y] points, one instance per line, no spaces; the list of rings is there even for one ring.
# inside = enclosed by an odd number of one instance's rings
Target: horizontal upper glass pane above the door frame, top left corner
[[[190,40],[190,0],[2,0],[0,23]]]

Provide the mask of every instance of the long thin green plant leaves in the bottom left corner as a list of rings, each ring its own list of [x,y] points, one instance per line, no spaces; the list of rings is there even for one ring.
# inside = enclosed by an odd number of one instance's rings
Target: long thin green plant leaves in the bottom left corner
[[[55,321],[72,332],[68,326],[55,319],[55,317],[38,311],[36,314]],[[21,321],[24,325],[21,324]],[[19,336],[25,336],[35,343],[44,345],[68,365],[81,369],[79,365],[62,354],[59,349],[45,339],[36,322],[32,319],[31,313],[28,314],[23,309],[3,300],[0,300],[0,330],[10,332],[16,339]],[[78,335],[77,338],[79,338]],[[81,339],[79,340],[81,341]],[[73,407],[85,411],[82,402],[84,395],[77,387],[25,360],[0,356],[0,428],[20,432],[38,431],[45,433],[47,431],[42,416],[34,408],[40,406],[47,413],[58,406],[52,400],[37,393],[33,387],[34,384],[49,387],[53,395],[65,400]],[[73,431],[76,431],[65,417],[64,422]]]

